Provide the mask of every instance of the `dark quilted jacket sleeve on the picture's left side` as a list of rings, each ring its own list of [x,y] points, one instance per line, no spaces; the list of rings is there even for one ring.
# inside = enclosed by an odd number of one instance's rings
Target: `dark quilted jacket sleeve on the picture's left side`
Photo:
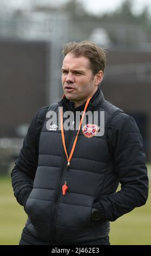
[[[11,172],[12,187],[17,202],[25,205],[31,193],[38,165],[38,140],[48,107],[41,108],[32,119],[23,147]]]

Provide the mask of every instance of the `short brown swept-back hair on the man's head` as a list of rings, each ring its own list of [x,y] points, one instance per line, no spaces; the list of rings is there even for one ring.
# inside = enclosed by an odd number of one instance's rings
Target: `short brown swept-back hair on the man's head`
[[[94,75],[100,70],[104,72],[106,65],[106,52],[94,44],[94,42],[69,42],[64,45],[62,53],[65,57],[69,52],[73,53],[75,57],[87,57],[90,61],[90,69],[93,71]]]

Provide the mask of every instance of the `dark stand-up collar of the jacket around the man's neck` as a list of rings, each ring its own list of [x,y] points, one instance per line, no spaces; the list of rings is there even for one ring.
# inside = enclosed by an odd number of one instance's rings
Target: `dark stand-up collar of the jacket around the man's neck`
[[[104,101],[103,93],[101,89],[98,88],[89,102],[87,111],[91,111],[91,110],[95,111],[95,109],[97,109],[99,106],[102,105],[103,101]],[[67,109],[68,111],[75,112],[75,111],[83,111],[86,102],[84,102],[81,106],[74,108],[74,103],[69,101],[65,96],[63,96],[62,100],[59,101],[58,104],[60,104],[60,106],[65,107],[65,109]]]

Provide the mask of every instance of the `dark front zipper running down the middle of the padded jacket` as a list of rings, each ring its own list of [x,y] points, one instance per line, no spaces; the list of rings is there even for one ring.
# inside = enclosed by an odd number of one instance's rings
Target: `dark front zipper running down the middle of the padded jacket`
[[[71,142],[71,135],[73,133],[73,130],[69,131],[68,137],[67,137],[67,148],[69,148],[70,142]],[[65,173],[65,162],[67,162],[65,153],[63,154],[63,161],[61,164],[61,170],[60,170],[60,177],[57,182],[56,187],[56,196],[54,198],[54,205],[52,206],[52,214],[51,214],[51,223],[52,223],[52,244],[56,240],[56,216],[57,216],[57,209],[58,209],[58,203],[60,202],[60,193],[62,189],[62,181]]]

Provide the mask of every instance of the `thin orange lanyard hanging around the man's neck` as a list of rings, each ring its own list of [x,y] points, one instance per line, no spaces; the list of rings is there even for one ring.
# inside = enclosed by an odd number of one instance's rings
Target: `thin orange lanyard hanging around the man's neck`
[[[78,126],[78,132],[77,132],[77,135],[75,137],[75,141],[74,141],[74,144],[73,144],[73,148],[71,149],[71,153],[70,153],[70,156],[68,157],[68,154],[67,154],[67,149],[66,149],[66,146],[65,146],[65,139],[64,139],[64,130],[63,130],[63,108],[61,107],[61,115],[60,115],[60,123],[61,123],[61,136],[62,136],[62,143],[63,143],[63,148],[64,148],[64,151],[65,151],[65,155],[67,156],[67,167],[69,168],[69,165],[70,165],[70,161],[71,161],[71,158],[74,154],[74,150],[75,150],[75,147],[76,147],[76,142],[77,142],[77,136],[78,136],[78,133],[80,132],[80,128],[81,128],[81,125],[82,125],[82,122],[83,122],[83,118],[84,118],[84,115],[86,114],[86,109],[88,107],[88,104],[89,104],[89,101],[90,101],[91,97],[88,98],[87,102],[86,102],[86,105],[84,107],[84,111],[82,113],[82,118],[81,118],[81,121],[80,121],[80,125]]]

